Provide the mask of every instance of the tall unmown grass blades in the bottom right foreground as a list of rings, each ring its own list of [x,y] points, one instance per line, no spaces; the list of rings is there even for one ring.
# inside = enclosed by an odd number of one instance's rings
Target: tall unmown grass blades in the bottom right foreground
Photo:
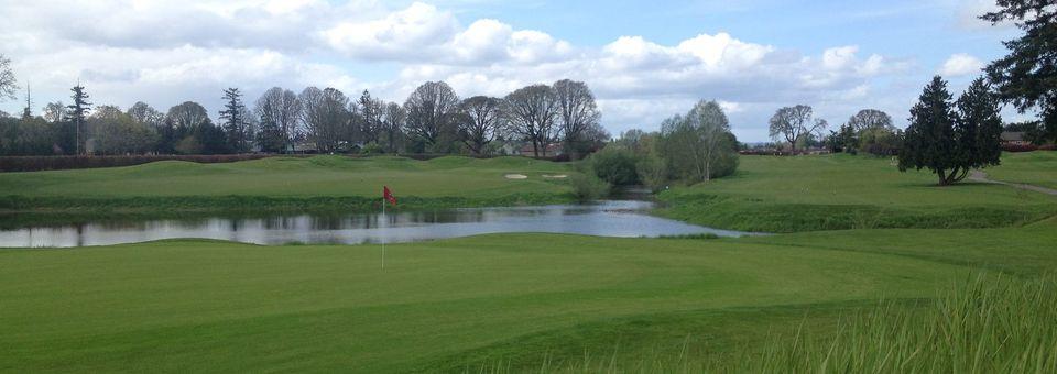
[[[619,349],[537,367],[503,361],[471,373],[1055,373],[1057,276],[972,276],[916,306],[882,301],[840,318],[836,332],[798,328],[722,356],[663,352],[622,360]],[[557,363],[556,363],[557,362]]]

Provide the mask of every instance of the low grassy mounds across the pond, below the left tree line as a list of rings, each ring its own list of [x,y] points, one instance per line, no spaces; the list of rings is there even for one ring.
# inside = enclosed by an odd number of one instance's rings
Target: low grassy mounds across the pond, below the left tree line
[[[383,185],[403,209],[564,202],[565,164],[476,160],[270,157],[229,164],[156,162],[101,169],[0,174],[0,211],[79,215],[378,209]],[[523,174],[526,179],[508,179]]]

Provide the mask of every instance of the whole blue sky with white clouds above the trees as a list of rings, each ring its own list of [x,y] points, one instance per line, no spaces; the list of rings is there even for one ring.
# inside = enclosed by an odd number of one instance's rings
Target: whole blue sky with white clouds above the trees
[[[585,81],[615,136],[657,130],[698,100],[717,100],[745,142],[767,141],[781,107],[808,105],[831,128],[860,109],[904,127],[934,75],[960,92],[1005,54],[1012,25],[976,19],[987,0],[372,1],[0,0],[0,54],[20,99],[0,110],[197,101],[216,117],[221,91],[252,102],[270,87],[364,89],[403,102],[444,80],[461,97],[531,84]],[[1024,118],[1011,109],[1006,120]]]

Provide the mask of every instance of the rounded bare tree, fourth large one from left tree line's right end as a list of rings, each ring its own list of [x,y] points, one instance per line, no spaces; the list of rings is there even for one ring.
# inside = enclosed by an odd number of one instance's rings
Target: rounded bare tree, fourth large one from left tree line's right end
[[[459,97],[448,84],[427,81],[418,86],[407,100],[407,132],[428,145],[436,145],[440,135],[450,130],[458,113]]]

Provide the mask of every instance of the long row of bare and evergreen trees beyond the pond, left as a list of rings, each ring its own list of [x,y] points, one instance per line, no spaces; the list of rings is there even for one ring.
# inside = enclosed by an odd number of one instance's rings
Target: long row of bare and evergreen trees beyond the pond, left
[[[2,59],[7,62],[7,59]],[[0,78],[6,76],[0,75]],[[13,77],[10,77],[13,86]],[[13,90],[0,90],[13,97]],[[581,157],[609,141],[601,111],[582,81],[531,85],[505,97],[460,98],[444,81],[418,86],[403,103],[363,90],[281,87],[247,103],[225,89],[217,122],[199,103],[162,112],[145,102],[128,110],[94,106],[84,86],[70,105],[51,102],[37,116],[26,96],[21,117],[0,113],[0,155],[229,153],[521,153]],[[505,147],[505,150],[504,150]]]

